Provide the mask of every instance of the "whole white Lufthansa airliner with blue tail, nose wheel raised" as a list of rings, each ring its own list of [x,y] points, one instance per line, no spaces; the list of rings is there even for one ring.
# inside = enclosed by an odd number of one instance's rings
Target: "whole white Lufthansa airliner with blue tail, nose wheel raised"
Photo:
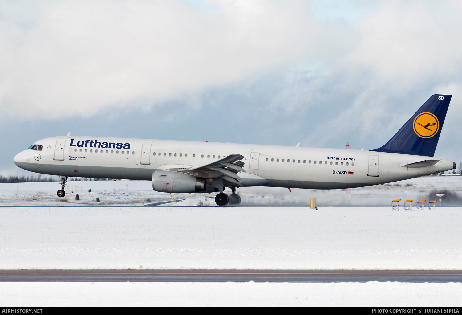
[[[456,168],[433,158],[451,95],[432,95],[384,146],[371,151],[92,136],[39,140],[14,157],[25,170],[68,176],[151,180],[155,191],[219,191],[239,204],[236,187],[342,189],[384,184]],[[228,196],[223,191],[231,189]]]

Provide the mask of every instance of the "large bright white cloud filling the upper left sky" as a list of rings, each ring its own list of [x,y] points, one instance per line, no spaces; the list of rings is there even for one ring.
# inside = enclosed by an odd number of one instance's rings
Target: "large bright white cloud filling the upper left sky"
[[[44,1],[0,20],[0,110],[69,117],[219,86],[306,56],[319,31],[303,1]],[[14,11],[14,10],[13,10]]]

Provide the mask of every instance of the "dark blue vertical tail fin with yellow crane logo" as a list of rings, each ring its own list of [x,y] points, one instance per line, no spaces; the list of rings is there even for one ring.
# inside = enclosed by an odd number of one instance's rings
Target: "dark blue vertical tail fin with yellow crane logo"
[[[435,155],[452,95],[435,94],[383,147],[371,151],[414,155]]]

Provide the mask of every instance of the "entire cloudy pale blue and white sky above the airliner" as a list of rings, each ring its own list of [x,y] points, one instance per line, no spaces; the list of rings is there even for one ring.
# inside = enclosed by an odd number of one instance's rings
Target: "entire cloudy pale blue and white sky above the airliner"
[[[462,2],[0,0],[0,174],[66,135],[374,149],[452,94]]]

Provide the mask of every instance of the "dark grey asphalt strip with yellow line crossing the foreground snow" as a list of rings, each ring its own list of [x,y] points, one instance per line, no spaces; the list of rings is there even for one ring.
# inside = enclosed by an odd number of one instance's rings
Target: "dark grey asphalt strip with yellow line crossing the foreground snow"
[[[0,282],[462,282],[462,271],[1,270]]]

